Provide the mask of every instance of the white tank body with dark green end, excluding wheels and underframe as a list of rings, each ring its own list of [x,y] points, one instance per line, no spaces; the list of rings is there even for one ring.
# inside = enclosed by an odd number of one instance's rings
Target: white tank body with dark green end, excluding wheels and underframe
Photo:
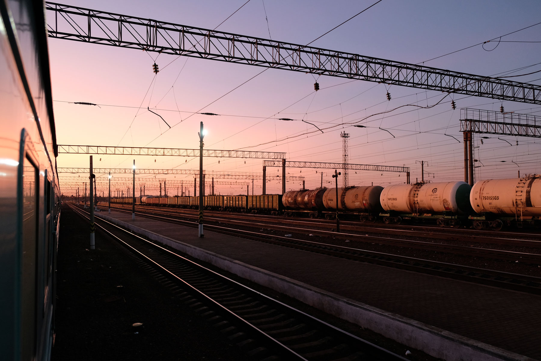
[[[467,214],[470,191],[466,182],[400,184],[383,188],[380,200],[385,211]]]

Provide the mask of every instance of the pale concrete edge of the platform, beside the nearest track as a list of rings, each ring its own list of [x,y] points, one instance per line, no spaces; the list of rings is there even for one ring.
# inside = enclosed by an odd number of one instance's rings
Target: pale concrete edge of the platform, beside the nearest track
[[[275,291],[287,294],[321,311],[345,319],[351,323],[377,332],[399,343],[428,353],[428,355],[447,361],[489,361],[520,360],[535,361],[496,346],[441,330],[399,314],[386,312],[377,307],[362,304],[359,301],[344,298],[338,294],[301,283],[283,275],[275,274],[243,262],[224,257],[202,248],[164,237],[163,235],[137,227],[128,222],[117,220],[105,214],[97,216],[142,234],[151,240],[175,248],[192,257],[208,262],[222,270],[248,279]],[[213,233],[206,231],[206,233]]]

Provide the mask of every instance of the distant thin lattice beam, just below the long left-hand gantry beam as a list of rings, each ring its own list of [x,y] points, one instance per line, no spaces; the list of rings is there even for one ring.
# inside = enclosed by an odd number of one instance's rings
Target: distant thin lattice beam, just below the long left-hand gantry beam
[[[132,174],[133,168],[94,168],[94,174]],[[137,174],[193,174],[199,175],[199,170],[195,169],[135,169]],[[90,174],[90,168],[58,168],[58,173],[83,173]],[[263,179],[263,175],[260,173],[248,173],[248,172],[203,172],[207,178],[214,177],[215,179]],[[282,180],[280,175],[270,176],[268,179]],[[131,178],[130,178],[131,179]],[[299,176],[286,176],[286,180],[289,181],[302,181],[304,177]]]

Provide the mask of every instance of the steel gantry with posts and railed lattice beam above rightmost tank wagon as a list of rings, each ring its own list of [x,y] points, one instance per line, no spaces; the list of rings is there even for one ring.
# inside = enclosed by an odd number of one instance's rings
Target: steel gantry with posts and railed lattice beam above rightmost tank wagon
[[[460,132],[464,135],[464,181],[474,183],[473,133],[541,138],[541,116],[483,109],[460,109]]]

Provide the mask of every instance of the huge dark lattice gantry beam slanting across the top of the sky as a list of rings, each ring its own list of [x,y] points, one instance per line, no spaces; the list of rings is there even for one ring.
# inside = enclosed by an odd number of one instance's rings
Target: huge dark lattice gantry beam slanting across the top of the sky
[[[541,104],[541,86],[46,3],[49,37]]]

